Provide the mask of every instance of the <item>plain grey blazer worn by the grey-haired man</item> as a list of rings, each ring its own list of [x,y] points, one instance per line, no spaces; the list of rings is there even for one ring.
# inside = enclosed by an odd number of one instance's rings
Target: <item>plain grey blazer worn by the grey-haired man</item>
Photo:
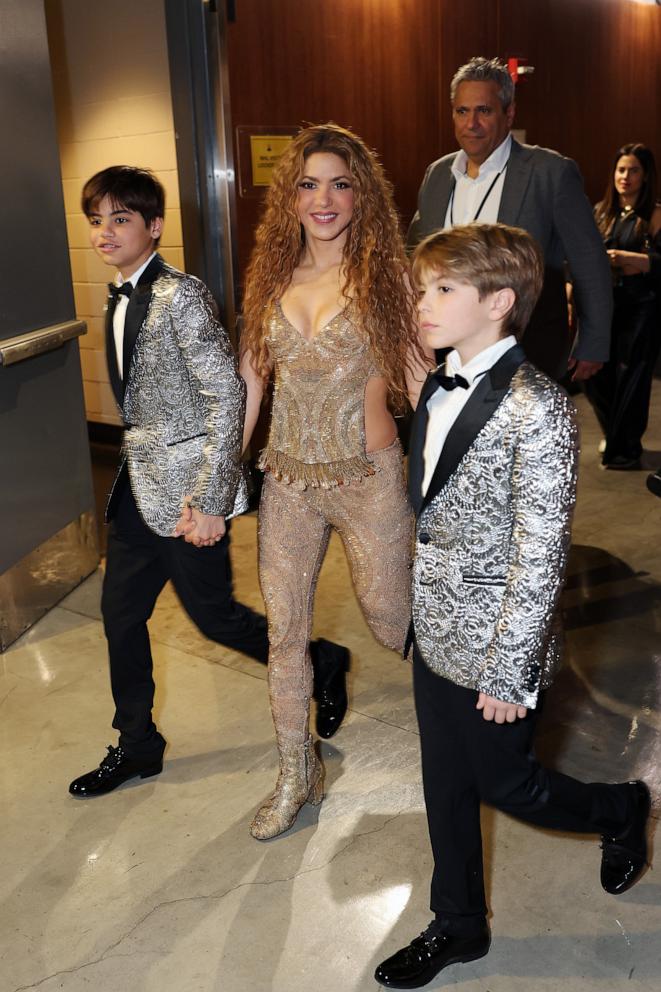
[[[451,166],[457,154],[445,155],[427,169],[409,227],[410,248],[444,226],[455,184]],[[530,359],[556,377],[566,368],[566,262],[578,317],[573,355],[606,361],[613,306],[610,268],[576,163],[548,148],[521,145],[513,139],[498,220],[524,228],[544,253],[544,289],[524,341]]]

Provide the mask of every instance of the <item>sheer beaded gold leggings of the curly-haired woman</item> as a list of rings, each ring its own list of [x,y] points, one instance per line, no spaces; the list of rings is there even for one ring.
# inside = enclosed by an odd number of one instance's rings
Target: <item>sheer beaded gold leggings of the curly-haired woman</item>
[[[269,695],[280,742],[308,737],[312,607],[331,527],[340,535],[369,627],[401,651],[411,615],[413,517],[398,441],[370,452],[377,471],[333,489],[264,479],[259,578],[269,627]]]

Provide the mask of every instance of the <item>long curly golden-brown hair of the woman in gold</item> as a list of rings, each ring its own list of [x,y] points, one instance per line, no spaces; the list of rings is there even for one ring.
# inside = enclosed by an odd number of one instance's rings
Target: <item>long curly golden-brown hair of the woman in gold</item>
[[[352,300],[369,337],[393,406],[401,409],[406,398],[405,369],[411,367],[412,356],[422,352],[392,185],[376,154],[337,124],[299,131],[274,169],[246,273],[241,349],[250,351],[255,370],[268,379],[266,315],[301,260],[305,241],[296,209],[297,186],[305,162],[316,152],[338,155],[351,176],[354,205],[343,251],[342,292]]]

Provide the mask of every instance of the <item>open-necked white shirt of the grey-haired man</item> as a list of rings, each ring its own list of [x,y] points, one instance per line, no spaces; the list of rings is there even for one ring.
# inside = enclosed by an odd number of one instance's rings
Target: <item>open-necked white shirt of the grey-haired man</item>
[[[453,224],[470,224],[476,219],[482,224],[497,222],[505,184],[505,170],[511,150],[512,135],[508,134],[498,148],[492,151],[486,162],[482,163],[475,179],[471,179],[466,172],[468,165],[466,152],[462,149],[457,154],[452,164],[455,184],[445,214],[445,227],[452,227]],[[496,176],[498,178],[494,183]],[[493,187],[489,189],[492,183],[494,183]],[[484,205],[480,210],[483,200]],[[479,217],[476,216],[478,212]]]

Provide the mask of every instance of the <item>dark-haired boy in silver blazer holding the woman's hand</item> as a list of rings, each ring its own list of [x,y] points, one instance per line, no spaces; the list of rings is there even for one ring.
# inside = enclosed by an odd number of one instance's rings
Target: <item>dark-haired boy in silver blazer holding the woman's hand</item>
[[[166,742],[152,719],[147,621],[168,580],[212,640],[266,663],[268,638],[264,617],[232,596],[226,520],[248,504],[245,384],[211,294],[156,251],[165,193],[151,172],[104,169],[85,184],[82,207],[92,247],[117,269],[106,357],[126,425],[106,511],[101,602],[119,746],[71,783],[72,795],[87,798],[162,769]],[[321,713],[332,717],[334,732],[346,709],[347,652],[320,641],[316,653],[318,671],[334,676],[335,695],[327,694]]]

